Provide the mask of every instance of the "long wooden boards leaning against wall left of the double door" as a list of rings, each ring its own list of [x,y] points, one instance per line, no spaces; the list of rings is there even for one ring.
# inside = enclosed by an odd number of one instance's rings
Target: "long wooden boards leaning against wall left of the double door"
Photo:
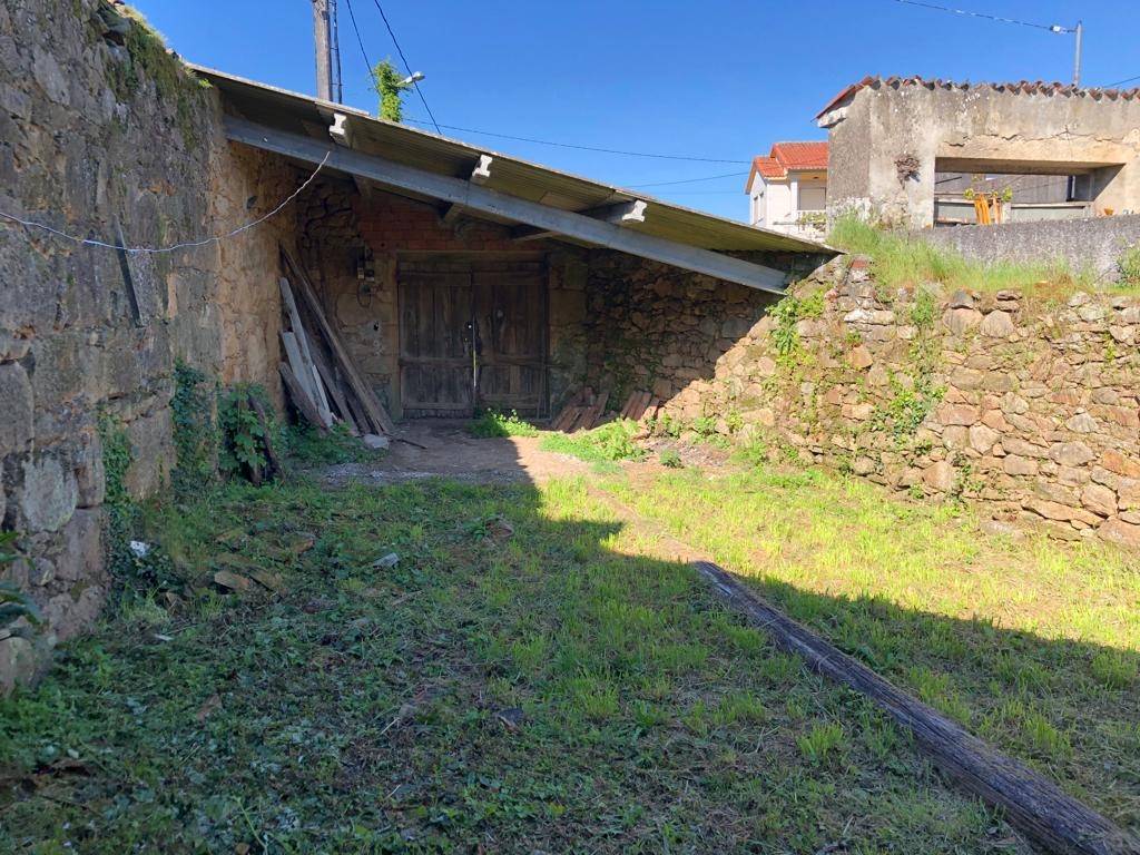
[[[280,375],[293,405],[321,431],[343,422],[353,437],[391,434],[392,420],[325,317],[309,277],[284,249],[282,264],[288,271],[279,285],[290,328],[282,328],[287,361],[280,364]]]

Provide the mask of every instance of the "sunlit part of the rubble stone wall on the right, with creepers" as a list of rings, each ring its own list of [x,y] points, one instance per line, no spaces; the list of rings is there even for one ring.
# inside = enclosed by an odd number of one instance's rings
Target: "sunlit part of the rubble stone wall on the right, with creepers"
[[[850,258],[792,293],[667,410],[773,456],[1140,546],[1140,299],[886,292]]]

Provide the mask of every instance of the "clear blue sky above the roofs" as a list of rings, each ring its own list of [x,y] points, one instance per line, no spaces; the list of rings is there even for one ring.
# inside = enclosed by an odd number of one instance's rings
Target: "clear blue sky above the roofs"
[[[135,0],[197,63],[312,92],[309,0]],[[344,100],[376,98],[340,0]],[[1065,80],[1073,38],[897,0],[382,0],[441,124],[546,140],[747,162],[784,139],[823,139],[816,112],[866,74]],[[930,0],[1034,24],[1085,24],[1082,82],[1140,76],[1133,2]],[[368,57],[399,62],[375,0],[351,0]],[[1137,80],[1133,85],[1140,84]],[[407,115],[426,119],[417,98]],[[420,125],[417,125],[420,127]],[[747,163],[627,157],[448,136],[622,186],[746,172]],[[743,177],[645,192],[734,219]]]

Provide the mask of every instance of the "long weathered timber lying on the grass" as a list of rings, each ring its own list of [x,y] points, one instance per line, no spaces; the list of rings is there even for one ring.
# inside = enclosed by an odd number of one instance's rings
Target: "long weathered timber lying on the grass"
[[[1002,808],[1010,824],[1049,852],[1140,855],[1135,837],[772,608],[723,568],[708,561],[693,562],[693,567],[722,600],[767,633],[776,646],[797,653],[813,670],[866,695],[909,730],[943,772],[990,805]]]

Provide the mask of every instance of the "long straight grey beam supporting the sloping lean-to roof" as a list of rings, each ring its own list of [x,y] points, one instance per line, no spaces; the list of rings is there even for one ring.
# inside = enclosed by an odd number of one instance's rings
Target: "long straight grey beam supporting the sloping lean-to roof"
[[[396,163],[378,155],[335,146],[329,147],[327,142],[320,142],[300,133],[256,124],[237,116],[226,116],[225,122],[226,135],[235,142],[244,142],[254,148],[276,152],[309,163],[320,163],[327,155],[329,169],[358,174],[386,187],[420,193],[443,202],[458,203],[472,211],[514,220],[596,246],[652,259],[759,291],[774,294],[784,293],[783,287],[788,275],[764,264],[668,241],[657,235],[648,235],[572,211],[562,211],[488,187],[480,187],[477,182],[464,181],[462,178],[441,176],[404,163]]]

